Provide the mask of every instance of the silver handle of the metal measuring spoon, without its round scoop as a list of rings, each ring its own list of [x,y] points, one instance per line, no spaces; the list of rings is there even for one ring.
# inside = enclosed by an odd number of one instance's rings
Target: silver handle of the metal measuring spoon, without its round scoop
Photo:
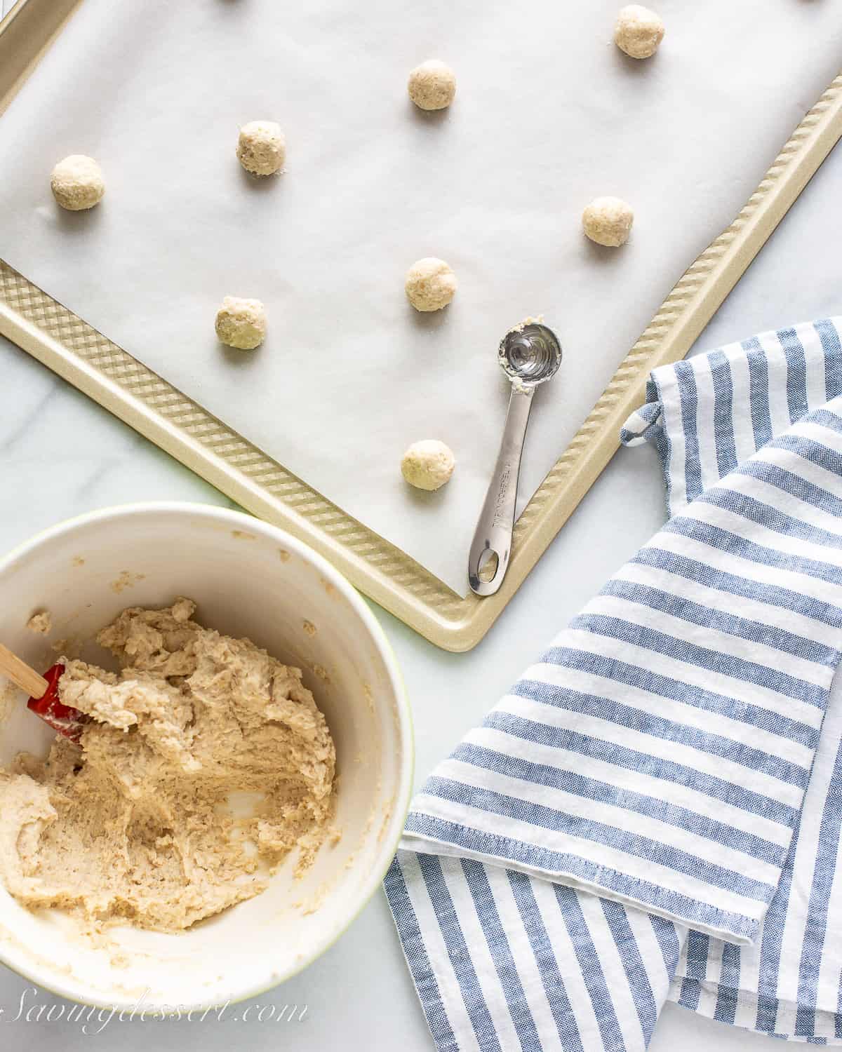
[[[494,595],[503,583],[508,567],[520,459],[534,393],[535,387],[512,387],[497,466],[468,554],[467,580],[477,595]]]

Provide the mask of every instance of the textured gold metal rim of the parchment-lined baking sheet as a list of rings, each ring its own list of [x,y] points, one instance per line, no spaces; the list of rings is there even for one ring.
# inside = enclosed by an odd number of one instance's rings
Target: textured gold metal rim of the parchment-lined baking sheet
[[[19,0],[0,23],[0,114],[81,0]],[[446,650],[485,635],[617,451],[651,369],[682,359],[842,136],[842,74],[804,117],[739,216],[693,263],[515,527],[500,591],[462,599],[0,260],[0,333],[243,508],[288,530],[362,592]],[[467,553],[465,553],[467,560]]]

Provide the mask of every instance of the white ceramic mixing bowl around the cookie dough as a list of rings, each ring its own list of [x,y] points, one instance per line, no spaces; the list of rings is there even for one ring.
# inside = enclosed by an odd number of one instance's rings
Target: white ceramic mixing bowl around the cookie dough
[[[304,670],[337,748],[336,824],[305,876],[287,859],[269,888],[177,934],[131,927],[92,940],[56,910],[21,908],[0,887],[0,959],[36,985],[101,1006],[219,1005],[250,997],[319,956],[380,884],[412,785],[408,706],[392,650],[347,582],[305,545],[235,511],[139,504],[95,512],[39,534],[0,561],[0,640],[39,670],[54,644],[103,664],[96,631],[126,606],[176,595],[197,618],[248,636]],[[29,615],[47,608],[53,630]],[[74,651],[76,652],[76,651]],[[43,753],[52,731],[0,677],[0,763]]]

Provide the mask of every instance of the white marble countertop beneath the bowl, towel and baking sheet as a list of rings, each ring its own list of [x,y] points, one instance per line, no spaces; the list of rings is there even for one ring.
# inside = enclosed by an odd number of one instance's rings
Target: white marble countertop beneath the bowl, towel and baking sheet
[[[11,6],[5,2],[6,9]],[[699,341],[699,349],[796,321],[842,312],[842,148],[831,155]],[[575,353],[575,348],[568,348]],[[204,501],[221,493],[0,339],[0,550],[62,519],[138,500]],[[466,654],[436,649],[373,606],[404,671],[414,709],[419,781],[517,679],[542,646],[655,532],[663,503],[653,450],[621,450],[483,643]],[[0,967],[0,1043],[46,1052],[104,1047],[310,1050],[340,1045],[430,1052],[433,1041],[382,894],[302,974],[268,991],[276,1014],[302,1019],[27,1021],[56,998]],[[60,1004],[60,1003],[59,1003]],[[34,1008],[33,1008],[34,1007]],[[255,1013],[253,1013],[254,1015]],[[279,1033],[279,1029],[281,1033]],[[99,1036],[95,1036],[100,1031]],[[721,1052],[779,1048],[667,1006],[650,1048]]]

